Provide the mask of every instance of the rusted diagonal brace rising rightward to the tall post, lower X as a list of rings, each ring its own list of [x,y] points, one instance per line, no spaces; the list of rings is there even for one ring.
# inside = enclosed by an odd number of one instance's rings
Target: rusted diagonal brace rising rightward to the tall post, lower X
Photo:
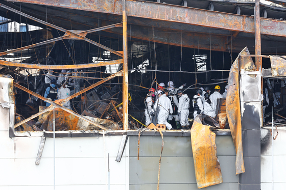
[[[90,89],[92,89],[92,88],[94,88],[94,87],[97,87],[97,86],[99,86],[99,85],[101,85],[101,84],[107,82],[108,80],[110,80],[111,78],[114,78],[115,76],[122,76],[122,74],[123,74],[123,71],[122,71],[122,70],[119,71],[119,72],[116,72],[115,74],[112,74],[112,75],[110,75],[110,76],[104,78],[104,79],[101,80],[100,82],[98,82],[98,83],[96,83],[96,84],[93,84],[93,85],[91,85],[91,86],[89,86],[89,87],[87,87],[87,88],[85,88],[85,89],[79,91],[78,93],[73,94],[73,95],[67,97],[66,99],[60,101],[59,104],[60,104],[60,105],[63,105],[65,102],[69,101],[70,99],[73,99],[73,98],[75,98],[75,97],[81,95],[82,93],[85,93],[85,92],[87,92],[88,90],[90,90]],[[41,114],[44,114],[45,112],[49,112],[49,111],[53,110],[55,107],[56,107],[55,105],[52,105],[52,106],[50,106],[50,107],[47,107],[45,110],[39,112],[38,114],[35,114],[35,115],[33,115],[33,116],[31,116],[31,117],[29,117],[29,118],[27,118],[27,119],[25,119],[25,120],[23,120],[23,121],[17,123],[16,125],[14,125],[14,128],[20,126],[20,125],[23,124],[23,123],[26,123],[27,121],[30,121],[31,119],[34,119],[34,118],[38,117],[38,116],[41,115]]]

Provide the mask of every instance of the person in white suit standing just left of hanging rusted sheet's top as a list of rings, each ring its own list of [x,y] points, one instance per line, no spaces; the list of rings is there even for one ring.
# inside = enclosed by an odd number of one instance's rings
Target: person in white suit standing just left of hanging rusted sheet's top
[[[179,96],[179,105],[178,105],[178,116],[180,120],[180,124],[182,126],[182,129],[189,129],[189,123],[188,123],[188,108],[189,108],[189,98],[186,94],[183,94],[183,90],[178,90],[178,96]]]

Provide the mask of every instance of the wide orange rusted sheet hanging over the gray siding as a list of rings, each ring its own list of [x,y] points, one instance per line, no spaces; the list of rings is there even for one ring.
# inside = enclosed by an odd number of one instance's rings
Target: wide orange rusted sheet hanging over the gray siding
[[[204,125],[203,117],[206,115],[201,114],[196,117],[190,129],[198,188],[223,182],[221,166],[217,157],[216,134],[211,131],[216,127]]]

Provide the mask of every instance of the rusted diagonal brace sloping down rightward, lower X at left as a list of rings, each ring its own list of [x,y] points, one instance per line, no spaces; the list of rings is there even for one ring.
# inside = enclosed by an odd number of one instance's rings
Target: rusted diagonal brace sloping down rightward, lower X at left
[[[52,105],[54,105],[54,106],[56,106],[56,107],[59,107],[59,108],[61,108],[62,110],[66,111],[66,112],[68,112],[68,113],[70,113],[70,114],[73,114],[73,115],[77,116],[78,118],[81,118],[81,119],[84,120],[84,121],[87,121],[88,123],[91,123],[92,125],[95,125],[95,126],[101,128],[101,129],[107,130],[107,128],[105,128],[104,126],[102,126],[102,125],[100,125],[100,124],[98,124],[98,123],[95,123],[95,122],[93,122],[93,121],[91,121],[91,120],[89,120],[89,119],[87,119],[87,118],[85,118],[85,117],[83,117],[83,116],[81,116],[81,115],[79,115],[79,114],[77,114],[77,113],[75,113],[75,112],[69,110],[68,108],[66,108],[66,107],[64,107],[64,106],[62,106],[62,105],[60,105],[60,104],[58,104],[58,103],[56,103],[56,102],[54,102],[54,101],[52,101],[52,100],[49,100],[49,99],[47,99],[47,98],[45,98],[45,97],[43,97],[43,96],[41,96],[41,95],[39,95],[39,94],[37,94],[37,93],[35,93],[35,92],[33,92],[33,91],[31,91],[31,90],[25,88],[25,87],[22,87],[21,85],[18,85],[17,83],[13,83],[13,85],[14,85],[15,87],[17,87],[17,88],[23,90],[23,91],[28,92],[29,94],[32,94],[33,96],[35,96],[35,97],[37,97],[37,98],[40,98],[41,100],[44,100],[44,101],[46,101],[46,102],[49,102],[49,103],[51,103]]]

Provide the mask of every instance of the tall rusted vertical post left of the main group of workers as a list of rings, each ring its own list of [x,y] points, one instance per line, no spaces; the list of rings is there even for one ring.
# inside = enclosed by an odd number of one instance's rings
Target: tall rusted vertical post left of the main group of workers
[[[123,129],[128,129],[128,55],[127,55],[127,17],[125,0],[122,2],[123,22]]]

